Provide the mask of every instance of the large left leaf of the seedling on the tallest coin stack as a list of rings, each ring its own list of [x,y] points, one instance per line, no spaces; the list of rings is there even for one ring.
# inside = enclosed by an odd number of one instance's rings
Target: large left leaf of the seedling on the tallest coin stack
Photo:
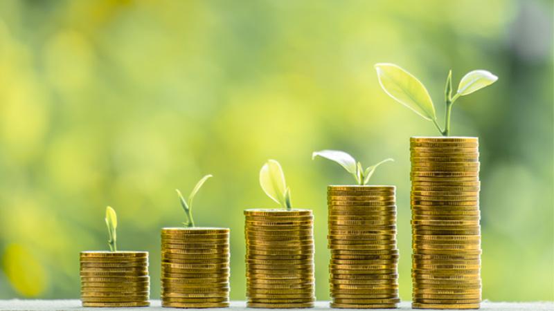
[[[375,70],[385,93],[426,120],[436,120],[435,106],[420,80],[395,64],[375,64]]]

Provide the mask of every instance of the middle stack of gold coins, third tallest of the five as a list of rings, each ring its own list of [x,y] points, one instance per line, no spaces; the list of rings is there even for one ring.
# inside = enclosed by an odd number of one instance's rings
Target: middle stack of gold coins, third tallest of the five
[[[314,306],[314,217],[305,209],[248,209],[247,305]]]

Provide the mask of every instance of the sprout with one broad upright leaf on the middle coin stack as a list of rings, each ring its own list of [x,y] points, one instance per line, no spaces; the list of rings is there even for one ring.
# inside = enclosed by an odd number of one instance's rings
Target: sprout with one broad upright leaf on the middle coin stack
[[[268,160],[260,170],[260,185],[271,200],[277,202],[284,209],[292,209],[290,189],[285,182],[285,174],[276,160]]]

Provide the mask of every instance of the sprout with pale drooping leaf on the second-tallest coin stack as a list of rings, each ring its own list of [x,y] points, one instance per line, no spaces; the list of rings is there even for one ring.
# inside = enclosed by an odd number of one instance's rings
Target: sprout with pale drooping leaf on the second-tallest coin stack
[[[354,176],[357,182],[357,185],[360,185],[360,186],[368,184],[369,179],[371,178],[371,176],[373,176],[375,169],[377,169],[379,165],[385,162],[394,161],[393,159],[388,158],[364,169],[364,167],[361,165],[360,162],[357,162],[355,158],[353,158],[352,156],[350,156],[348,153],[344,151],[339,151],[339,150],[315,151],[314,153],[312,153],[312,160],[314,160],[317,156],[320,156],[321,158],[325,158],[328,160],[332,160],[340,164],[341,167],[344,167],[344,169],[346,169],[348,173],[351,173],[352,176]]]

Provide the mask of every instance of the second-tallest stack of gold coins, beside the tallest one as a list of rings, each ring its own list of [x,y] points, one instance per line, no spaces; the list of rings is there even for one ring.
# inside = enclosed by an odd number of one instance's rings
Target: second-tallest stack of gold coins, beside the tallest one
[[[396,308],[398,249],[393,186],[329,186],[332,308]]]

